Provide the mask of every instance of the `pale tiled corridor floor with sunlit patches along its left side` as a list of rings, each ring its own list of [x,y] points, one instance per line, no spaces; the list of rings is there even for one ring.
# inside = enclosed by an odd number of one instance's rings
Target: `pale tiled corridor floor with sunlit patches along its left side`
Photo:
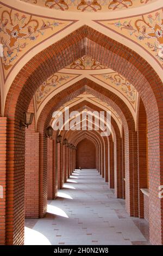
[[[26,220],[25,245],[148,245],[148,223],[130,218],[97,170],[76,170],[48,213]]]

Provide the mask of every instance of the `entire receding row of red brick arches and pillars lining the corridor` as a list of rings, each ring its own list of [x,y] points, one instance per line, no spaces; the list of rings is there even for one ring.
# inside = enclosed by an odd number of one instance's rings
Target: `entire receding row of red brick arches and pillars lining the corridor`
[[[109,88],[102,88],[87,78],[61,90],[46,103],[29,129],[20,129],[23,113],[34,112],[33,96],[40,83],[85,53],[119,72],[136,88],[140,96],[136,129],[126,103]],[[52,139],[47,138],[46,129],[53,112],[83,93],[96,95],[114,108],[122,120],[122,130],[111,117],[108,137],[102,137],[92,121],[92,131],[54,131]],[[140,189],[149,186],[146,206],[150,212],[150,240],[153,244],[161,244],[162,201],[158,197],[158,188],[162,182],[162,105],[162,83],[151,66],[128,47],[89,27],[79,28],[30,60],[11,84],[5,102],[5,117],[0,118],[3,135],[1,163],[4,164],[2,216],[5,216],[1,218],[1,243],[23,244],[24,216],[45,216],[47,199],[57,197],[58,189],[73,170],[93,166],[109,187],[114,188],[115,196],[126,200],[130,216],[145,216],[144,195]],[[103,110],[87,100],[70,110],[81,112],[85,108]],[[57,143],[59,134],[61,142]],[[77,150],[67,147],[65,138]],[[87,151],[84,151],[85,145]],[[88,156],[90,148],[92,153]],[[85,154],[90,166],[87,166]]]

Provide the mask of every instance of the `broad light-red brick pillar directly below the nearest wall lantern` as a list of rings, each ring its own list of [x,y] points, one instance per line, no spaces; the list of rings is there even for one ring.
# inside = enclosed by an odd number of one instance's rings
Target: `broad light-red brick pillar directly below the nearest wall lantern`
[[[39,218],[39,132],[26,129],[25,217]]]

